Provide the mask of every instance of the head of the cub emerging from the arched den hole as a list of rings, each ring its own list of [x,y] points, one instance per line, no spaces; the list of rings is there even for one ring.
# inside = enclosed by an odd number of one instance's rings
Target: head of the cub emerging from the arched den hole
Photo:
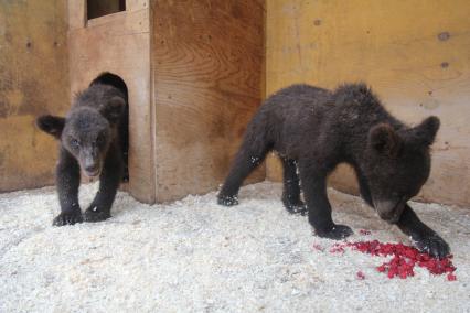
[[[108,148],[118,136],[117,126],[125,105],[116,88],[92,85],[77,95],[66,117],[41,116],[36,125],[61,141],[63,149],[78,161],[84,174],[95,177],[102,173]]]

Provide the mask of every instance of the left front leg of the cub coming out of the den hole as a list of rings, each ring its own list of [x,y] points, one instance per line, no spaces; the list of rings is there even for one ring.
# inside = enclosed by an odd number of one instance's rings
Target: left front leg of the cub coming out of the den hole
[[[56,168],[61,214],[54,218],[52,225],[64,226],[83,222],[78,203],[79,180],[78,162],[67,151],[61,149],[61,156]]]

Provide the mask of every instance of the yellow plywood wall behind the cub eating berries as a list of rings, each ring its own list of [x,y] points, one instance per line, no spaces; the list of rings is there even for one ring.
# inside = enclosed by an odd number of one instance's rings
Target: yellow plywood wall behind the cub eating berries
[[[466,0],[267,1],[267,94],[365,80],[408,123],[441,119],[425,201],[470,205],[470,6]],[[280,179],[276,162],[268,177]],[[355,190],[350,171],[333,185]]]

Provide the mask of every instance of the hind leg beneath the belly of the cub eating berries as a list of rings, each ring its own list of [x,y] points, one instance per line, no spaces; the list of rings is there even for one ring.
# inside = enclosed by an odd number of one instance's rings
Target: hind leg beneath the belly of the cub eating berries
[[[307,207],[300,199],[300,180],[297,173],[296,161],[288,158],[281,158],[281,162],[284,168],[284,206],[291,214],[306,215]]]

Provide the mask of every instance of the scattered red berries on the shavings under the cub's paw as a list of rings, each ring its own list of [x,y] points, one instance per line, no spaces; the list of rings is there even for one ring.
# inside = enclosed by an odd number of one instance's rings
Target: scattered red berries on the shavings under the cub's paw
[[[451,261],[452,256],[437,259],[410,246],[403,244],[382,244],[378,240],[335,244],[330,249],[330,252],[344,252],[344,248],[346,247],[372,256],[393,256],[389,261],[376,267],[378,272],[386,273],[391,279],[398,277],[400,279],[406,279],[407,277],[412,277],[415,274],[414,268],[418,266],[420,268],[426,268],[432,274],[448,273],[447,279],[449,281],[457,280],[457,277],[453,274],[456,267]],[[361,271],[359,271],[356,276],[359,279],[365,278]]]

